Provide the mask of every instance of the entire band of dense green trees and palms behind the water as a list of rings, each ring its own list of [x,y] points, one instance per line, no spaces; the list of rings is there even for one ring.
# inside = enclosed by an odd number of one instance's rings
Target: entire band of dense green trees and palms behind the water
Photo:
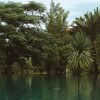
[[[53,1],[48,12],[34,1],[1,2],[0,73],[98,73],[99,9],[76,18],[72,28],[68,14]]]

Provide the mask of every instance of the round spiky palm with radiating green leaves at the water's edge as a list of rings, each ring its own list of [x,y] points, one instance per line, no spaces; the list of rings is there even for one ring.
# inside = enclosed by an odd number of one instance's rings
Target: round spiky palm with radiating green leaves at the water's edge
[[[75,73],[89,69],[93,63],[91,41],[84,33],[77,33],[68,46],[68,66]]]

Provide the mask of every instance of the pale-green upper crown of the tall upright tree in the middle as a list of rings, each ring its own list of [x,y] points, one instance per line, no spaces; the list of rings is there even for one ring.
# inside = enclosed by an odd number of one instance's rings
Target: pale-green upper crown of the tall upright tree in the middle
[[[61,35],[63,30],[67,27],[67,17],[69,12],[65,11],[60,4],[55,5],[51,1],[50,11],[47,12],[46,29],[49,33]]]

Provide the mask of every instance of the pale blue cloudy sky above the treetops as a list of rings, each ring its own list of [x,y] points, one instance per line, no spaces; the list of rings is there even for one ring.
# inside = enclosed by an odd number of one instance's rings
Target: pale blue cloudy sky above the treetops
[[[8,0],[0,0],[0,2],[7,2]],[[50,8],[51,0],[10,0],[14,2],[28,3],[29,1],[36,1],[43,3],[47,10]],[[94,11],[96,7],[100,7],[100,0],[53,0],[55,4],[60,3],[60,6],[69,11],[68,16],[69,24],[74,21],[76,17],[83,16],[89,11]]]

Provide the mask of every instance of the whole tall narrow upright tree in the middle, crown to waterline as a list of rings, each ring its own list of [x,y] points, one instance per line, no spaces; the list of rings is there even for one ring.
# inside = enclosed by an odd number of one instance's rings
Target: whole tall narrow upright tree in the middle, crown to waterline
[[[67,17],[69,12],[65,11],[60,4],[55,4],[51,1],[50,11],[47,12],[46,30],[53,34],[53,42],[48,55],[48,65],[51,68],[54,66],[55,73],[64,73],[66,70],[66,50],[69,35],[65,32],[68,27]],[[52,69],[52,68],[51,68]]]

